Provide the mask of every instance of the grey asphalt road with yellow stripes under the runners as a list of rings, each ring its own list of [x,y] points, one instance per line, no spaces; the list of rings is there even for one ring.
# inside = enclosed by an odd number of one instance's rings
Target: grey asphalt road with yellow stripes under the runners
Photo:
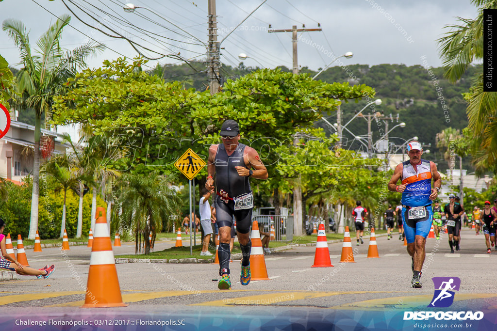
[[[377,237],[380,258],[366,258],[369,239],[352,248],[355,263],[339,263],[341,243],[329,244],[333,267],[312,268],[315,247],[294,247],[265,256],[271,280],[252,281],[242,286],[240,261],[234,261],[232,290],[217,289],[218,265],[213,264],[117,264],[123,301],[129,306],[112,309],[76,309],[83,304],[88,275],[90,249],[71,247],[43,249],[42,253],[27,250],[31,266],[39,268],[55,264],[56,272],[49,279],[19,276],[20,280],[0,283],[0,318],[16,312],[29,316],[42,314],[76,314],[82,318],[88,311],[106,316],[133,314],[165,314],[170,318],[187,316],[199,319],[205,314],[236,316],[253,314],[309,317],[326,310],[402,312],[425,309],[434,293],[431,280],[435,276],[461,279],[460,290],[450,309],[496,310],[495,275],[497,251],[486,254],[483,235],[463,229],[461,251],[450,254],[447,235],[441,240],[427,239],[423,287],[411,287],[411,259],[398,235],[392,240]],[[170,247],[174,241],[158,243],[156,250]],[[134,252],[134,243],[114,248],[117,256]],[[110,314],[110,315],[109,315]],[[117,314],[117,315],[116,315]],[[23,316],[24,316],[23,315]],[[75,315],[75,316],[76,316]],[[162,316],[166,318],[166,316]],[[211,321],[215,323],[215,321]]]

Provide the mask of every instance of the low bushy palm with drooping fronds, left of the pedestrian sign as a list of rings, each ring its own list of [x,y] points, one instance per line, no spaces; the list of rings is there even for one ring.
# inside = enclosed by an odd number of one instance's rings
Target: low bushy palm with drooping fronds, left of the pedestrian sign
[[[180,199],[171,187],[171,179],[157,173],[143,175],[123,175],[116,182],[118,198],[116,206],[120,215],[119,227],[135,232],[135,253],[139,242],[145,241],[145,254],[150,254],[149,233],[155,236],[163,227],[163,222],[170,222],[177,215]]]

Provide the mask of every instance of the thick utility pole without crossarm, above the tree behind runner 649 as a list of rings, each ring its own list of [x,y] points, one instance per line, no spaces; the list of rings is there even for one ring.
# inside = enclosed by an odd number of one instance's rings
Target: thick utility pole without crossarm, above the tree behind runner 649
[[[217,41],[216,0],[209,0],[209,43],[207,50],[209,90],[211,95],[219,91],[219,44]]]

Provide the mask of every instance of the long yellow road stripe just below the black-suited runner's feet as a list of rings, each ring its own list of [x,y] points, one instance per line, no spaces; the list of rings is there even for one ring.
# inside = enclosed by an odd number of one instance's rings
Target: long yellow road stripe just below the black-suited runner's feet
[[[207,301],[192,304],[190,306],[233,306],[233,305],[271,305],[276,302],[294,301],[302,299],[320,298],[338,294],[363,294],[372,293],[365,291],[352,292],[311,292],[311,291],[291,291],[270,294],[251,295],[240,298],[225,298],[223,300]],[[374,292],[385,293],[385,292]]]

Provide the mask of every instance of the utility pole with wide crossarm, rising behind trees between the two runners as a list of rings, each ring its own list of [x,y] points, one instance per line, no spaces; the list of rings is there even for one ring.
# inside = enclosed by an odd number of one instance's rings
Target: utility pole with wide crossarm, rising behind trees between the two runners
[[[281,29],[281,30],[276,30],[276,29],[270,29],[267,32],[291,32],[292,33],[292,49],[293,49],[293,61],[292,61],[292,72],[294,74],[299,73],[299,63],[297,60],[297,32],[311,32],[311,31],[322,31],[321,28],[315,28],[315,29],[306,29],[305,26],[302,26],[301,29],[297,29],[297,25],[293,25],[291,29]],[[293,139],[294,144],[297,144],[299,141],[298,137],[295,137]],[[300,179],[300,176],[299,176]],[[304,233],[304,227],[305,227],[305,221],[303,219],[303,214],[302,214],[302,208],[305,208],[305,206],[302,206],[302,188],[300,187],[300,184],[298,184],[294,189],[293,189],[293,233],[297,236],[301,236]]]

